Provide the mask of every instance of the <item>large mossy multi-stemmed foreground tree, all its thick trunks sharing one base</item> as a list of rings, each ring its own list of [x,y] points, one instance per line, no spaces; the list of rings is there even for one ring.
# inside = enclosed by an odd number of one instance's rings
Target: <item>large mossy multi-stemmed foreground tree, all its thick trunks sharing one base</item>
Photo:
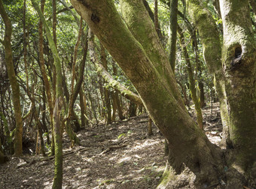
[[[248,1],[239,2],[242,5],[237,5],[237,1],[220,1],[224,21],[224,75],[221,65],[218,65],[221,60],[221,43],[215,33],[216,26],[212,23],[212,16],[202,7],[200,1],[187,2],[191,17],[199,31],[202,31],[200,37],[206,62],[212,64],[210,69],[212,68],[215,78],[225,79],[225,91],[221,83],[223,80],[217,80],[216,85],[219,86],[219,96],[222,95],[222,104],[225,103],[227,93],[230,111],[230,139],[234,149],[228,151],[231,155],[226,156],[227,163],[222,159],[223,151],[209,142],[188,115],[168,57],[143,2],[121,1],[125,23],[111,0],[72,0],[72,5],[136,87],[154,123],[168,140],[169,163],[175,171],[181,172],[183,165],[187,166],[197,175],[195,183],[199,187],[203,187],[202,184],[211,186],[218,183],[225,179],[224,176],[227,178],[227,188],[242,187],[242,176],[248,176],[256,160],[253,85],[255,55]],[[239,21],[234,21],[240,14],[242,17],[239,17]],[[200,23],[204,25],[200,26]],[[210,27],[203,31],[203,26]],[[248,82],[247,86],[245,81]],[[222,116],[227,115],[227,110],[224,109],[223,112]],[[224,171],[226,166],[227,170]],[[237,184],[234,179],[241,182]]]

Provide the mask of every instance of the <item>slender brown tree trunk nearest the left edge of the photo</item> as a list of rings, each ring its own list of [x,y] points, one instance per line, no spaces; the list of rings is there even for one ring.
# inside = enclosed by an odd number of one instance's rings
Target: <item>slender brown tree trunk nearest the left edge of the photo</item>
[[[16,130],[14,138],[14,154],[20,156],[23,154],[23,123],[21,116],[21,107],[20,107],[20,87],[17,82],[16,74],[14,71],[13,55],[11,50],[11,20],[8,17],[8,14],[5,12],[5,8],[0,0],[0,14],[5,23],[5,39],[2,41],[5,46],[5,60],[6,67],[8,71],[8,78],[11,83],[11,89],[13,93],[13,104],[14,104],[14,113],[16,121]]]

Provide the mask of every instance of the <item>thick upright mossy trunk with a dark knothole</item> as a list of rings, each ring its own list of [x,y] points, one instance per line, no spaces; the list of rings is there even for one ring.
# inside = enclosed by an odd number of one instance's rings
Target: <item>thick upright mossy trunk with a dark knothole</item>
[[[249,1],[222,0],[220,6],[224,26],[222,60],[234,149],[230,163],[248,170],[256,162],[256,46]]]

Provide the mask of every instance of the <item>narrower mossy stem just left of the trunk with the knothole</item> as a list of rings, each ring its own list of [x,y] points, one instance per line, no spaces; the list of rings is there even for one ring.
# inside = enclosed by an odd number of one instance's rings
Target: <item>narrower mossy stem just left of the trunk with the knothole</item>
[[[221,63],[221,40],[218,29],[209,10],[199,0],[187,0],[188,13],[197,27],[203,43],[203,55],[210,74],[214,74],[215,89],[221,107],[221,121],[224,128],[223,143],[228,146],[229,117],[227,113],[227,96],[224,85],[224,73]]]

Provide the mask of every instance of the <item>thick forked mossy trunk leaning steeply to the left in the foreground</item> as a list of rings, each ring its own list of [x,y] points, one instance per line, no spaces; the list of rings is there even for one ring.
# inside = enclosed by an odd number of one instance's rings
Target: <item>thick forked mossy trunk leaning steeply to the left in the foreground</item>
[[[188,166],[199,183],[218,181],[221,154],[187,113],[168,57],[142,1],[122,1],[123,23],[112,0],[72,0],[142,98],[169,142],[169,160],[180,172]],[[182,150],[181,150],[182,149]]]

